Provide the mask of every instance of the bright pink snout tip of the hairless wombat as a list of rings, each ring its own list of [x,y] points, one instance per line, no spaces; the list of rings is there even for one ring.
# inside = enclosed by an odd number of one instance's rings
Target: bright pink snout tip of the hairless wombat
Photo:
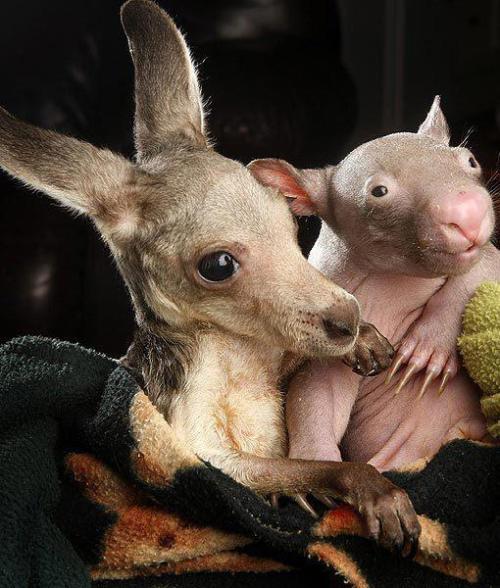
[[[483,245],[488,239],[486,225],[489,201],[480,192],[459,192],[445,196],[437,208],[437,219],[445,234],[458,247]]]

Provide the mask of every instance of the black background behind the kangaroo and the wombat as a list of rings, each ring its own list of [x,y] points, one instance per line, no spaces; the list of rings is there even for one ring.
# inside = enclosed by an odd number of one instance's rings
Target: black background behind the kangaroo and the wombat
[[[0,104],[132,155],[121,0],[0,3]],[[187,34],[218,150],[334,163],[414,130],[434,94],[492,175],[500,149],[500,0],[163,0]],[[0,340],[43,334],[114,356],[128,296],[92,225],[0,177]],[[317,222],[302,221],[307,250]]]

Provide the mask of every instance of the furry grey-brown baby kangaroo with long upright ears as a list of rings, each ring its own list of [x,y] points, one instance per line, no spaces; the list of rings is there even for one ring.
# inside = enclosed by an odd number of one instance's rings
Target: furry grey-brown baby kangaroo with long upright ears
[[[286,199],[211,147],[169,16],[149,0],[129,0],[121,15],[135,65],[136,163],[0,110],[0,165],[93,219],[136,311],[127,362],[196,454],[259,493],[335,496],[388,546],[414,542],[407,495],[373,467],[285,457],[285,352],[350,353],[356,363],[356,349],[387,360],[387,344],[368,328],[353,351],[358,304],[302,257]]]

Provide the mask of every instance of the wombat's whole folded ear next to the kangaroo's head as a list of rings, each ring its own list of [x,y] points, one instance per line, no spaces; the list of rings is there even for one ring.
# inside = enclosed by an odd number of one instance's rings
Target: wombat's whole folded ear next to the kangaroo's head
[[[248,169],[262,185],[286,196],[297,216],[324,212],[328,194],[326,169],[299,170],[283,159],[255,159]]]

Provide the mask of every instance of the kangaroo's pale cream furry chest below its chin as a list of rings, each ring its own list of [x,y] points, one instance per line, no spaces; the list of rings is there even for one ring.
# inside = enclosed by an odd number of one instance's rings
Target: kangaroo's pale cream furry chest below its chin
[[[201,458],[224,470],[235,454],[286,454],[281,354],[207,336],[170,402],[167,419]]]

